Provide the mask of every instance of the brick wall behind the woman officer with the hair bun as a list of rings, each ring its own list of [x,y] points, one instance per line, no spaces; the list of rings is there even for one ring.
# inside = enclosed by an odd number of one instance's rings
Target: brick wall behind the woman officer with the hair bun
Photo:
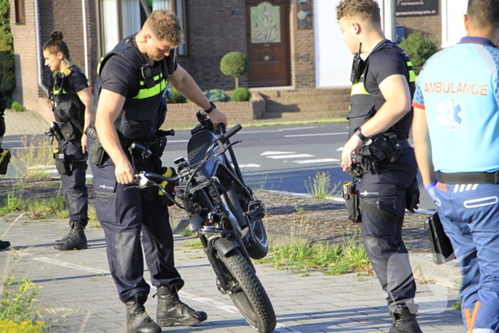
[[[95,68],[98,61],[98,36],[96,19],[96,1],[86,1],[86,21],[88,37],[89,81],[95,79]],[[14,0],[11,0],[11,22],[15,22]],[[83,49],[83,15],[81,1],[75,0],[39,0],[41,45],[50,39],[53,30],[63,32],[64,41],[68,44],[72,63],[85,68]],[[11,24],[14,36],[14,53],[16,58],[16,89],[14,101],[18,101],[28,110],[36,110],[48,120],[52,119],[51,108],[46,101],[46,93],[38,86],[38,69],[36,58],[36,25],[34,1],[25,1],[26,24]],[[42,65],[43,56],[40,55]],[[48,85],[51,71],[43,66],[43,83]]]

